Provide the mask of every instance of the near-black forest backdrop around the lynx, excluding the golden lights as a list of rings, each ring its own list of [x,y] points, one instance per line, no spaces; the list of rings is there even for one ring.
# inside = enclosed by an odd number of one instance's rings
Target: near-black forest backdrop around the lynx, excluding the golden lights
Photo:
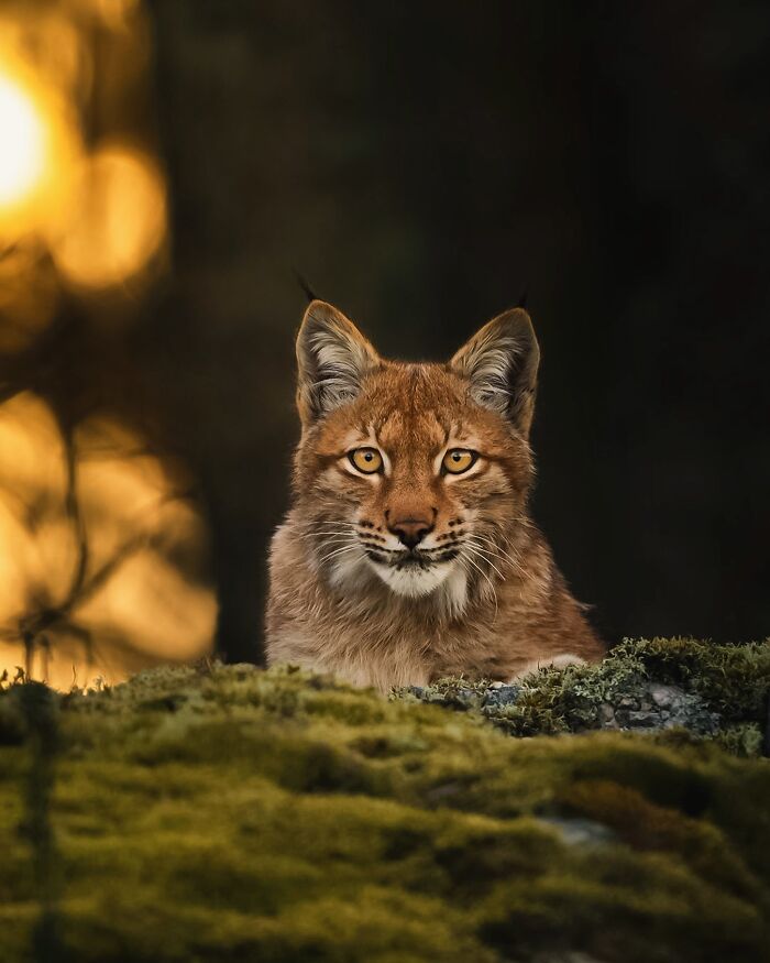
[[[125,358],[199,480],[230,657],[287,504],[295,267],[410,359],[526,286],[535,516],[600,631],[767,635],[770,8],[150,10],[175,273]]]

